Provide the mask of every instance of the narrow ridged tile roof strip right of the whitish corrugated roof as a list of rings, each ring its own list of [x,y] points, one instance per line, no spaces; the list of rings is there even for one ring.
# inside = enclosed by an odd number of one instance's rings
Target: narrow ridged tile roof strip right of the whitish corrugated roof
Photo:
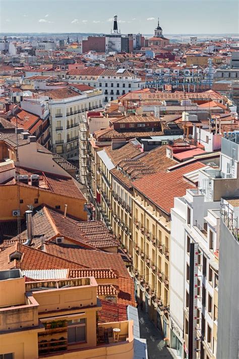
[[[95,277],[95,279],[117,279],[118,272],[112,269],[69,269],[68,278]]]

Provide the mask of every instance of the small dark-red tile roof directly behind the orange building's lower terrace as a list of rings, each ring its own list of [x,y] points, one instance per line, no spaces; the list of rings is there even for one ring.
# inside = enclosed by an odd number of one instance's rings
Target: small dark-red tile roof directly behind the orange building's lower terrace
[[[102,308],[98,311],[99,323],[123,322],[127,318],[127,306],[125,304],[114,303],[109,300],[100,299]]]

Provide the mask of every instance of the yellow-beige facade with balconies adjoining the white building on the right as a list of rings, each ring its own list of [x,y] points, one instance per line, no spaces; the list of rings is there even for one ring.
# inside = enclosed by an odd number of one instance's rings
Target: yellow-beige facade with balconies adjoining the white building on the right
[[[168,336],[170,218],[143,193],[133,197],[133,273],[138,301]]]

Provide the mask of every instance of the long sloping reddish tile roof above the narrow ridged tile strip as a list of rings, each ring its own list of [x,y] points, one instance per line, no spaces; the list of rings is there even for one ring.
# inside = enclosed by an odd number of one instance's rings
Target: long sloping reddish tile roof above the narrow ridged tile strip
[[[57,257],[67,258],[80,267],[87,268],[112,268],[118,271],[119,276],[129,278],[125,264],[121,254],[108,253],[100,250],[89,250],[71,247],[70,245],[56,245],[50,242],[44,244],[45,251],[56,255]],[[65,268],[65,267],[62,267]]]

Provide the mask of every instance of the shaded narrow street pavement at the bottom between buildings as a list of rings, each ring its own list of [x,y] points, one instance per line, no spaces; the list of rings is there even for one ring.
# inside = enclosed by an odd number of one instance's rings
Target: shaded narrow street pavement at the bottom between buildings
[[[139,323],[140,337],[147,339],[148,359],[173,359],[170,349],[164,346],[161,334],[141,310],[139,310]]]

